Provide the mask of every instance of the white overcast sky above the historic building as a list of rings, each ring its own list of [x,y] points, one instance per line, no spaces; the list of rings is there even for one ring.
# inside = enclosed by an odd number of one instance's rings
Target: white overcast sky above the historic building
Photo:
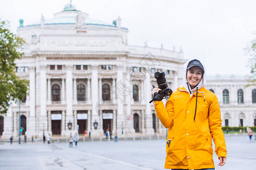
[[[24,25],[62,11],[70,0],[0,0],[0,18],[16,33]],[[73,0],[89,18],[112,23],[118,16],[128,28],[129,45],[183,49],[198,58],[208,74],[249,74],[246,46],[255,38],[255,0]]]

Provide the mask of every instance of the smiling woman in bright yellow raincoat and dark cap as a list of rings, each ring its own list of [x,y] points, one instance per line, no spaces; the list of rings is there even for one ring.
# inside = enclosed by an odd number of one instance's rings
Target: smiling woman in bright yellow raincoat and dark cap
[[[168,128],[167,169],[214,169],[212,139],[223,166],[226,144],[216,95],[207,90],[205,68],[197,59],[187,63],[183,86],[166,103],[155,101],[156,115]],[[152,90],[153,95],[159,88]]]

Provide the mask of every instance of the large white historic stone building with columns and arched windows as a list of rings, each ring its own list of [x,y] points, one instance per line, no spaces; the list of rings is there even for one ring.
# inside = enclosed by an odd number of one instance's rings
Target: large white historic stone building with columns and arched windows
[[[1,117],[2,135],[18,135],[19,111],[28,137],[68,136],[77,130],[99,136],[107,129],[118,135],[165,133],[154,104],[148,103],[152,87],[157,86],[154,73],[164,71],[168,86],[176,90],[183,82],[183,52],[150,48],[146,43],[128,45],[127,33],[120,18],[112,24],[101,22],[72,5],[52,19],[42,16],[30,25],[20,20],[18,36],[27,44],[16,71],[30,80],[29,95],[20,109],[14,103]],[[208,81],[208,88],[220,100],[224,125],[252,126],[256,90],[244,87],[246,79],[236,80],[217,77]],[[236,102],[238,89],[243,91],[242,103],[239,97]],[[222,100],[225,90],[230,94],[228,103]]]

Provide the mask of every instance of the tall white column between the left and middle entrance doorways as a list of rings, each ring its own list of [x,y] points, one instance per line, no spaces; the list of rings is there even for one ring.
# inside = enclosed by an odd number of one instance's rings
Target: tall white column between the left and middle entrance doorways
[[[66,73],[66,102],[67,102],[67,111],[66,111],[66,122],[69,121],[74,125],[74,117],[73,117],[73,78],[72,78],[72,66],[67,65],[67,73]],[[65,125],[66,126],[66,125]],[[72,133],[72,130],[66,130],[65,135],[69,136]],[[73,133],[72,133],[73,134]]]

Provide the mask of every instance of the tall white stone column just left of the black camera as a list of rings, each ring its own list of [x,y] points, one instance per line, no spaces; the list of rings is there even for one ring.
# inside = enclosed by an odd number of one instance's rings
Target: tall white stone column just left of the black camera
[[[146,71],[146,78],[144,79],[144,87],[145,87],[145,100],[150,101],[151,100],[151,81],[150,81],[150,74],[148,71]],[[152,113],[151,113],[151,105],[150,103],[146,103],[146,113],[145,113],[145,133],[146,134],[154,134],[153,129],[153,122],[152,122]]]

